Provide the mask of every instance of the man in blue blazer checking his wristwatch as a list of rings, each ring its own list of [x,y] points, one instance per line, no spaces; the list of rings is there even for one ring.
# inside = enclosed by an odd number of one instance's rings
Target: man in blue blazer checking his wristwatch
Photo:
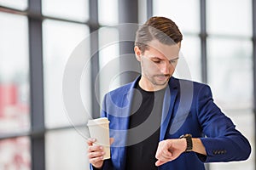
[[[137,31],[135,54],[142,75],[106,94],[111,159],[88,139],[91,169],[205,169],[204,162],[241,161],[251,146],[213,103],[211,89],[172,77],[183,36],[165,17]]]

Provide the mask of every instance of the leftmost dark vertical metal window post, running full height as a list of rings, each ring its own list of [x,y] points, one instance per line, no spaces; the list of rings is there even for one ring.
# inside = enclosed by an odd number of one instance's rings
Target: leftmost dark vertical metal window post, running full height
[[[41,0],[29,0],[28,11],[40,16]],[[28,17],[29,25],[29,67],[31,96],[31,131],[44,130],[44,69],[42,20]],[[36,44],[36,45],[35,45]],[[32,169],[45,169],[44,133],[31,136]]]

